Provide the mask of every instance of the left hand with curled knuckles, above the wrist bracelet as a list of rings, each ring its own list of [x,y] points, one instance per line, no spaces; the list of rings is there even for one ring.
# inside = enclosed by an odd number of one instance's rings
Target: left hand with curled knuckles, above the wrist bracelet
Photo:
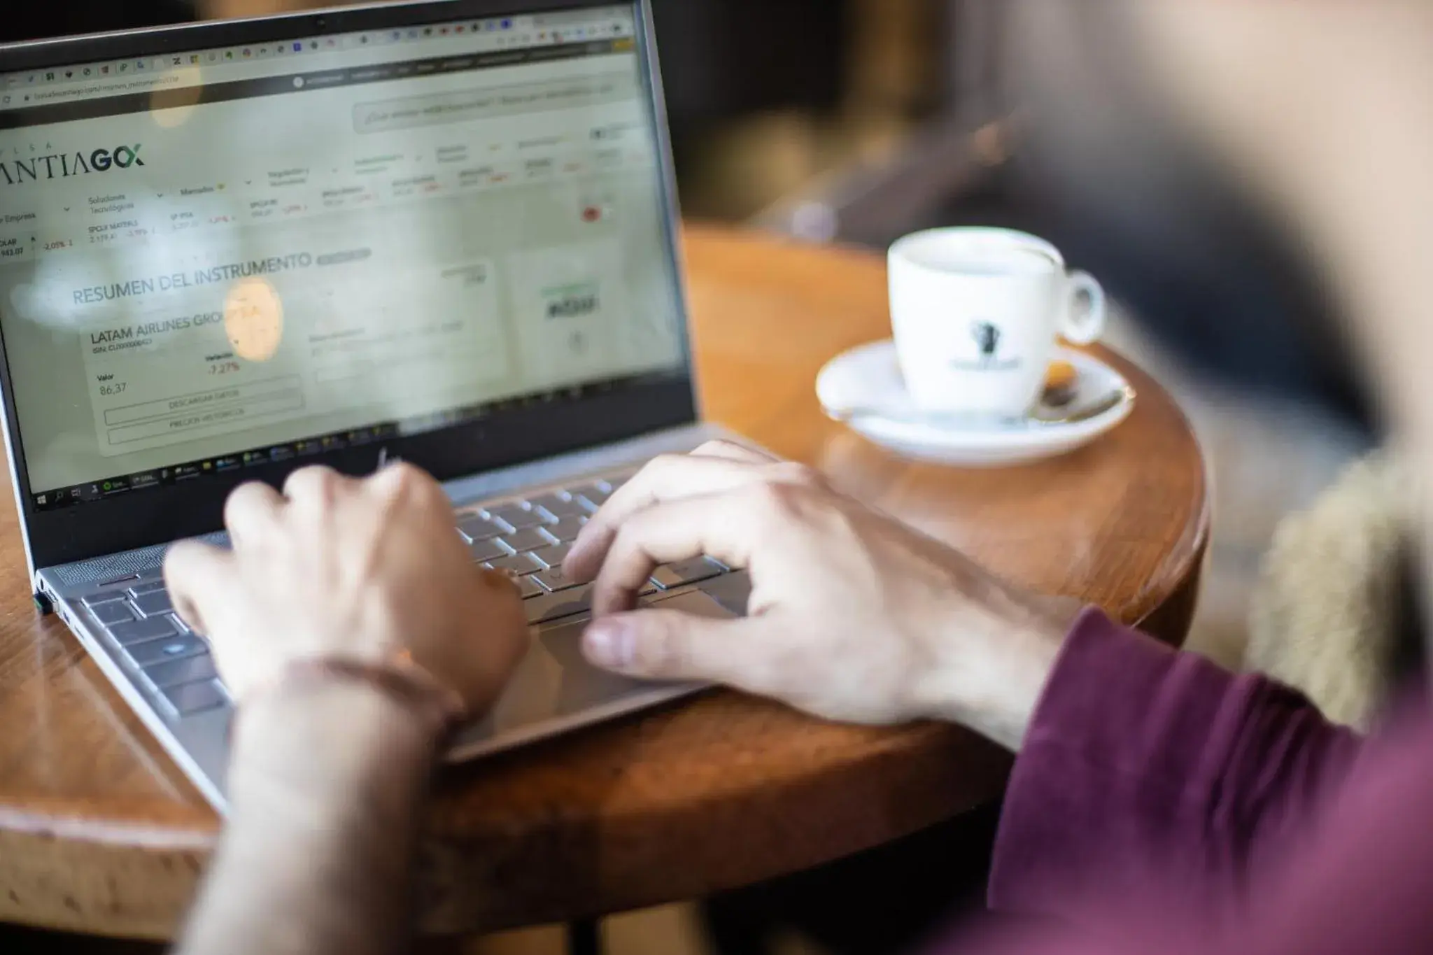
[[[406,653],[481,713],[527,646],[516,588],[473,566],[447,497],[417,468],[304,468],[282,495],[246,484],[225,524],[232,550],[175,544],[165,578],[238,700],[294,661]]]

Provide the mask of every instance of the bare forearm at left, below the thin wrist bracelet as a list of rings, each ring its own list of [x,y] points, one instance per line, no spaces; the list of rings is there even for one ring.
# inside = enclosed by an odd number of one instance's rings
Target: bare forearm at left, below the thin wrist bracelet
[[[396,951],[436,749],[424,722],[334,682],[257,699],[234,743],[231,816],[179,951]]]

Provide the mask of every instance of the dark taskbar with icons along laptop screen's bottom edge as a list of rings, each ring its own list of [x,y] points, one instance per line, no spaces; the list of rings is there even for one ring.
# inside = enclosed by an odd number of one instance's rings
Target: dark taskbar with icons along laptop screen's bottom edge
[[[411,438],[420,434],[470,424],[503,411],[582,399],[642,382],[649,382],[653,377],[661,375],[633,375],[589,385],[562,388],[557,391],[543,391],[513,398],[503,398],[500,401],[451,408],[434,414],[406,418],[403,421],[385,421],[361,428],[348,428],[345,431],[334,431],[331,434],[312,438],[289,441],[285,444],[269,444],[212,458],[201,458],[198,461],[186,461],[183,464],[171,464],[162,468],[139,471],[136,474],[122,474],[99,481],[75,484],[72,487],[37,491],[30,495],[30,504],[36,511],[60,511],[70,507],[79,507],[82,504],[92,504],[95,501],[109,501],[126,494],[175,487],[178,484],[199,481],[208,477],[232,475],[246,468],[258,468],[302,458],[315,458],[331,451],[342,451],[345,448],[355,448],[378,441]]]

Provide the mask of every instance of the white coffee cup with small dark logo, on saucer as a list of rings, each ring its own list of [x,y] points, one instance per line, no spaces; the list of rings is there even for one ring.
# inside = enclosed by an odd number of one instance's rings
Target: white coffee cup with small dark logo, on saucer
[[[926,411],[1023,417],[1056,341],[1105,331],[1105,289],[1059,249],[1012,229],[931,229],[890,251],[891,326],[906,389]]]

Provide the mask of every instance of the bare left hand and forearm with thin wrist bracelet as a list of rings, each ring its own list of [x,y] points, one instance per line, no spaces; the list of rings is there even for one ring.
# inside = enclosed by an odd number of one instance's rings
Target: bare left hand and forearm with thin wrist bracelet
[[[451,724],[527,649],[517,588],[481,571],[433,478],[307,468],[229,498],[224,551],[165,576],[238,703],[229,819],[182,955],[378,955],[408,929],[428,775]]]

